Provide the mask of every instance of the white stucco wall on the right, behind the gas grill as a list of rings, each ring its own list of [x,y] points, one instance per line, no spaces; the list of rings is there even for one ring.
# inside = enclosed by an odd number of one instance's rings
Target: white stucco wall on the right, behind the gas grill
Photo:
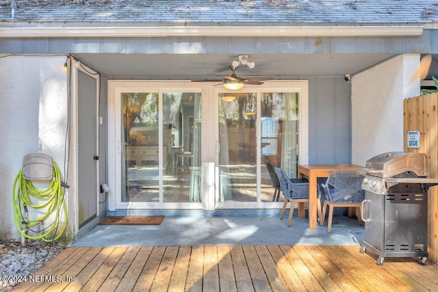
[[[352,77],[352,163],[403,150],[403,99],[420,94],[411,81],[420,55],[405,54]]]

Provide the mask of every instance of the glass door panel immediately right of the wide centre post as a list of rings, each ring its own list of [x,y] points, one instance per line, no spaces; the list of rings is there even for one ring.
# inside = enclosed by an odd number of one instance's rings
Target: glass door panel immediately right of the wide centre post
[[[219,94],[219,202],[257,201],[257,95]]]

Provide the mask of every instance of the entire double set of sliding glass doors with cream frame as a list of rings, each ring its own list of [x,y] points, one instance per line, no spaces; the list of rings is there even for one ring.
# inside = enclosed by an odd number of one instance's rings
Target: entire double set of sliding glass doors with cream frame
[[[110,211],[281,208],[266,163],[307,164],[307,82],[216,84],[109,83]]]

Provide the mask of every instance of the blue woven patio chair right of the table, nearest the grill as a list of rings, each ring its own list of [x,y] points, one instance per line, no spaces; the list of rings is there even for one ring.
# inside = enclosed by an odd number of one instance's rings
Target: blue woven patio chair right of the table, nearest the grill
[[[360,209],[361,202],[365,198],[365,192],[362,190],[362,180],[363,177],[357,172],[331,172],[326,183],[321,184],[322,194],[324,195],[321,225],[324,225],[327,206],[330,207],[327,233],[331,233],[333,209],[335,207],[355,207],[359,224],[362,223]]]

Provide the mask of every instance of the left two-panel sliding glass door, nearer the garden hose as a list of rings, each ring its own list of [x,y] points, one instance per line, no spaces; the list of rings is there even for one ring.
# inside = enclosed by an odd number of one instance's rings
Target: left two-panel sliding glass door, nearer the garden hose
[[[120,202],[202,202],[201,93],[123,92],[120,116]]]

